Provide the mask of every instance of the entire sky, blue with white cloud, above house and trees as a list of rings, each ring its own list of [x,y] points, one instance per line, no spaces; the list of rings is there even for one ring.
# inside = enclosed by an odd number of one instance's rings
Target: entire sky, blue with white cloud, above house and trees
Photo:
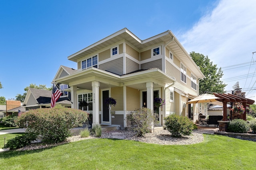
[[[0,96],[16,98],[31,83],[50,87],[60,65],[76,68],[69,55],[124,27],[140,39],[170,29],[188,53],[208,55],[217,67],[250,62],[255,7],[254,0],[0,0]],[[256,89],[256,78],[242,76],[255,68],[223,69],[226,90],[237,81]]]

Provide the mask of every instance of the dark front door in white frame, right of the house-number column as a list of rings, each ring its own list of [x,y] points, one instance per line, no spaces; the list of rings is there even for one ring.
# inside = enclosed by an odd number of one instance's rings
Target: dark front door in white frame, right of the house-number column
[[[109,105],[105,103],[106,98],[109,97],[109,90],[102,91],[102,125],[110,125]]]

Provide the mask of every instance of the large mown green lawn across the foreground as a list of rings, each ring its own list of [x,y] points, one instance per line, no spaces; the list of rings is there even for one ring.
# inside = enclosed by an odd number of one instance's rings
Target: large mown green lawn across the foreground
[[[0,135],[2,136],[2,135]],[[48,149],[0,153],[0,169],[255,169],[256,143],[204,134],[194,145],[88,139]]]

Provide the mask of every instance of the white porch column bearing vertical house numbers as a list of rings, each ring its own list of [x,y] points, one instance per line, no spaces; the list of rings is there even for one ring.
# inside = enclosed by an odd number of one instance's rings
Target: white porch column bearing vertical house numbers
[[[99,82],[92,82],[92,127],[100,124],[100,113],[99,113]]]

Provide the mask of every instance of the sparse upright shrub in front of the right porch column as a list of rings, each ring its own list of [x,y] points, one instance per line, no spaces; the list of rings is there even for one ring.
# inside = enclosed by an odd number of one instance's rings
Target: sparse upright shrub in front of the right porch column
[[[158,114],[145,107],[131,111],[127,119],[134,126],[137,136],[144,136],[150,132],[152,125],[158,124]]]

